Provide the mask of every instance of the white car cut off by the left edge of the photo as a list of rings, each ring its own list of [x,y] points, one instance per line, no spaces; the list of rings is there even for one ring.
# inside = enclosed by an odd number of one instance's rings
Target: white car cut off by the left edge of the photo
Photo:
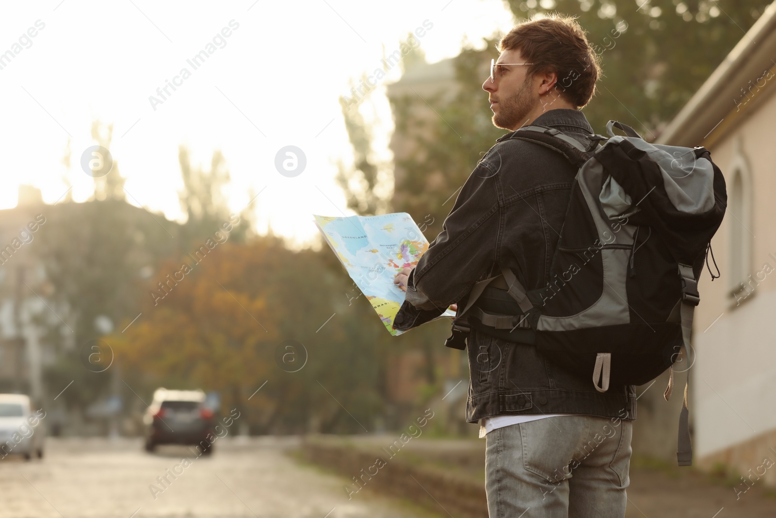
[[[34,455],[43,457],[46,427],[41,420],[43,409],[33,409],[29,396],[0,394],[0,460],[21,454],[29,461]]]

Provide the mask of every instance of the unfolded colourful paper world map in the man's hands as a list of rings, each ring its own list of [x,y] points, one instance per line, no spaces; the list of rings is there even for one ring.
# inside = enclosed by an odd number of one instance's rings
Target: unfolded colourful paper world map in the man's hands
[[[428,240],[410,214],[399,212],[379,216],[317,216],[315,224],[359,290],[372,303],[390,334],[393,318],[404,302],[404,291],[393,278],[428,250]],[[445,310],[441,317],[455,317]]]

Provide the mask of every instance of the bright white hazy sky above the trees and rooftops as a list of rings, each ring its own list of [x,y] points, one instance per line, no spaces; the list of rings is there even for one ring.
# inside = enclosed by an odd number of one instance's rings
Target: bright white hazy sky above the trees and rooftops
[[[3,5],[0,208],[16,206],[19,184],[37,186],[45,202],[56,202],[67,189],[63,176],[74,200],[86,200],[93,181],[80,158],[95,144],[90,130],[99,119],[113,123],[111,153],[129,203],[182,221],[178,145],[205,169],[220,149],[232,178],[231,209],[245,207],[248,189],[261,191],[251,205],[258,231],[271,225],[298,245],[309,242],[317,235],[311,214],[352,214],[334,182],[337,160],[352,161],[338,97],[348,94],[350,79],[381,67],[383,46],[387,54],[397,50],[425,20],[433,24],[420,39],[430,62],[455,56],[466,38],[479,46],[481,37],[512,23],[501,0]],[[214,37],[212,54],[195,69],[187,60]],[[2,61],[9,50],[13,57]],[[170,95],[151,106],[149,96],[161,99],[157,89],[182,68],[190,76],[175,79],[175,91],[168,87]],[[383,87],[399,76],[393,68],[370,96],[369,109],[375,106],[382,121],[380,155],[393,130]],[[70,138],[68,171],[61,158]],[[275,155],[287,145],[306,155],[298,176],[275,169]]]

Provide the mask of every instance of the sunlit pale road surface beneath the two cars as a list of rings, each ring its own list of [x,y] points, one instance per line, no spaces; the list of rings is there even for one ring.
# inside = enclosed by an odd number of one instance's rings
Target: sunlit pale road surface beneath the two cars
[[[225,437],[212,457],[197,457],[174,446],[147,454],[139,440],[49,438],[42,460],[0,460],[0,518],[430,516],[378,495],[348,501],[345,478],[284,453],[295,443]]]

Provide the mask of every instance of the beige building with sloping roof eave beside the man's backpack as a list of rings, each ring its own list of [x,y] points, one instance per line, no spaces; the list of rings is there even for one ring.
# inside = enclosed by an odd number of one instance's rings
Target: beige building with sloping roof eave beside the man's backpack
[[[776,469],[760,473],[764,458],[776,461],[774,57],[776,3],[658,142],[708,148],[727,184],[725,220],[712,240],[722,277],[712,283],[702,275],[695,312],[695,457],[707,467],[722,462],[776,485]]]

